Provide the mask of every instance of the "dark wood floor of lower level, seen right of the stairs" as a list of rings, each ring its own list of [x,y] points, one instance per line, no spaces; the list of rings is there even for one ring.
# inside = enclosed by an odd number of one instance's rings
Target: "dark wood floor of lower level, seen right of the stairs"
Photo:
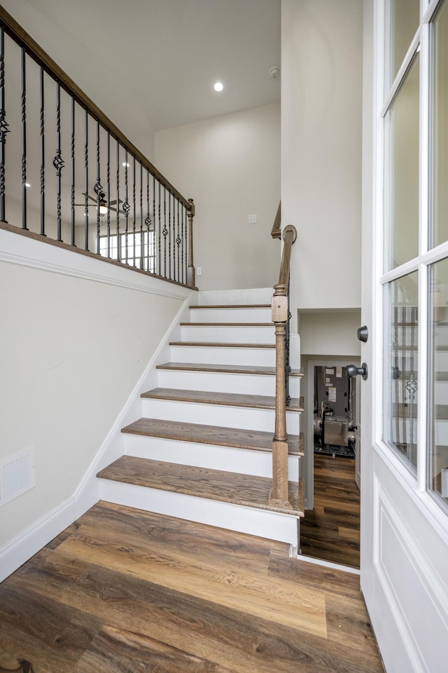
[[[359,568],[359,517],[353,458],[314,454],[314,510],[300,521],[302,554]]]

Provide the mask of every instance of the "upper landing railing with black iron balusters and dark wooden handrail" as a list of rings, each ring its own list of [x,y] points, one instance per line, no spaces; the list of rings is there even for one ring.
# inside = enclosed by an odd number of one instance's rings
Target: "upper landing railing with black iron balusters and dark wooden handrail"
[[[193,199],[1,6],[0,43],[0,226],[194,287]]]

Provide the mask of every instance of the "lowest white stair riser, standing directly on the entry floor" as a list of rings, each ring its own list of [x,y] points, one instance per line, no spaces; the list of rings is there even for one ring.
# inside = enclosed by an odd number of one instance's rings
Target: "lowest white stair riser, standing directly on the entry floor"
[[[172,491],[159,491],[135,484],[100,481],[101,499],[109,503],[297,546],[300,523],[297,517],[291,515],[196,498]]]

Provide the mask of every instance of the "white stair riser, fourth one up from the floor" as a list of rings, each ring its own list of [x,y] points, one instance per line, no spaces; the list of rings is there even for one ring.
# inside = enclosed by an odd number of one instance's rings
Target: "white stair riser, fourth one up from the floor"
[[[275,377],[255,374],[180,372],[159,369],[158,386],[159,388],[180,388],[181,390],[209,390],[217,393],[275,395]],[[289,394],[291,397],[300,397],[300,379],[297,376],[290,378]]]

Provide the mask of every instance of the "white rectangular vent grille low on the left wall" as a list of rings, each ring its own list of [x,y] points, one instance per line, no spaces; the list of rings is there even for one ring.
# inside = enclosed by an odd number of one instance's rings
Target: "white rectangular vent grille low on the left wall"
[[[35,485],[34,447],[0,461],[0,507]]]

